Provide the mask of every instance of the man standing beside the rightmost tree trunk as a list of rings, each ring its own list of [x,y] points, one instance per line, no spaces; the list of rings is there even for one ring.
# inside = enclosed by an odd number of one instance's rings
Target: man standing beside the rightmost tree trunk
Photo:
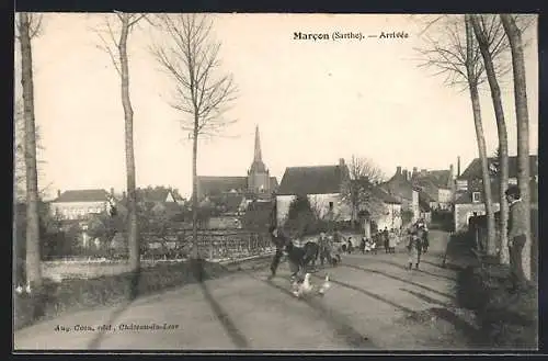
[[[525,208],[522,202],[520,188],[511,185],[505,192],[510,204],[509,216],[509,252],[510,252],[510,278],[512,281],[511,292],[517,292],[526,284],[522,264],[522,251],[526,240]]]

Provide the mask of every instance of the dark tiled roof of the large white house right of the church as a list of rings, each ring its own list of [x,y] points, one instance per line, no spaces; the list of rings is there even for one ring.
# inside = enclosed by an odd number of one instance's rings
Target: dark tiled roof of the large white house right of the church
[[[342,177],[341,166],[288,167],[277,194],[340,193]]]

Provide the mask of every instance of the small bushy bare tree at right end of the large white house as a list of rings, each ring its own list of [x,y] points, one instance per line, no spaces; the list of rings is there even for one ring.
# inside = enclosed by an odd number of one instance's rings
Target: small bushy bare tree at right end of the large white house
[[[349,163],[349,178],[343,183],[342,200],[352,210],[352,222],[357,222],[361,211],[367,211],[372,218],[385,213],[385,204],[374,188],[385,178],[383,171],[367,158],[352,156]]]

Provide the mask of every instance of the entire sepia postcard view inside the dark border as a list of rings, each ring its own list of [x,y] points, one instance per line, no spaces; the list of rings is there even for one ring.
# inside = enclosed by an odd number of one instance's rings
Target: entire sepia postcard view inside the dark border
[[[538,350],[537,22],[16,12],[12,352]]]

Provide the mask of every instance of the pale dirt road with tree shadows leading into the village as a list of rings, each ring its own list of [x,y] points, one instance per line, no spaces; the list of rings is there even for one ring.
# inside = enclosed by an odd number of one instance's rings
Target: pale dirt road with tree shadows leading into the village
[[[419,271],[404,269],[403,245],[396,255],[343,256],[341,266],[315,273],[317,284],[330,273],[332,287],[323,297],[295,298],[282,264],[272,281],[267,270],[238,272],[118,308],[61,316],[15,332],[14,347],[469,350],[476,330],[455,307],[455,272],[439,267],[444,242],[445,234],[432,233],[431,252]],[[102,325],[111,328],[100,330]]]

